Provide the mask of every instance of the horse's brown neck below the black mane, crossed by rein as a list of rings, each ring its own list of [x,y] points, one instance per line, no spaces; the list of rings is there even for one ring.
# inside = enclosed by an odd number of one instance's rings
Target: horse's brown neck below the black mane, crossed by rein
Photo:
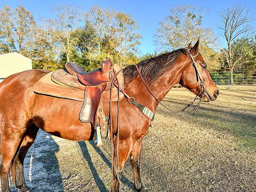
[[[175,63],[163,74],[163,76],[151,84],[149,89],[158,100],[161,101],[167,95],[169,90],[180,81],[183,70],[184,65],[182,66]],[[149,93],[139,76],[128,84],[127,90],[128,93],[131,93],[131,97],[134,97],[138,102],[142,103],[153,112],[155,111],[157,101]]]

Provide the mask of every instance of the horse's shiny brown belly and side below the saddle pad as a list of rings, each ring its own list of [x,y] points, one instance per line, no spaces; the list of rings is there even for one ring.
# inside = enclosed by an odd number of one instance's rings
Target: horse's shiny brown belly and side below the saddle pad
[[[67,140],[92,140],[94,130],[90,123],[79,120],[82,102],[35,95],[32,118],[47,133]]]

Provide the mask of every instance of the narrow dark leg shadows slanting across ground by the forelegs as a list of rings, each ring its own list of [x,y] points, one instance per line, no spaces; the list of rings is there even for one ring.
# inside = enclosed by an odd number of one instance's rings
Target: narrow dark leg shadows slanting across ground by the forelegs
[[[102,160],[108,165],[108,167],[111,169],[111,162],[108,160],[108,158],[105,156],[105,154],[102,152],[102,150],[99,147],[96,147],[93,143],[93,141],[89,141],[90,145],[95,149],[95,151],[99,154],[99,156],[102,158]],[[109,190],[106,188],[105,184],[103,183],[102,179],[100,178],[98,172],[96,171],[95,166],[93,165],[92,158],[88,152],[87,144],[84,141],[78,142],[81,151],[83,153],[83,156],[85,160],[87,160],[87,163],[89,165],[89,168],[93,174],[93,178],[95,180],[96,185],[98,186],[99,190],[101,192],[108,192]],[[110,171],[111,174],[111,171]],[[125,176],[122,176],[121,182],[124,183],[126,186],[128,186],[131,189],[133,188],[133,183],[128,180]]]

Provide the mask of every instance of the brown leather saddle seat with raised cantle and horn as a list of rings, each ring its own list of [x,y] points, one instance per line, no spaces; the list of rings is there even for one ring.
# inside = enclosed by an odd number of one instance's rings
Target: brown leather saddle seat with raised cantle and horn
[[[68,62],[65,64],[67,71],[73,76],[77,76],[79,81],[86,86],[95,86],[105,82],[109,82],[114,78],[113,64],[110,60],[106,60],[101,64],[101,68],[85,72],[78,64]]]

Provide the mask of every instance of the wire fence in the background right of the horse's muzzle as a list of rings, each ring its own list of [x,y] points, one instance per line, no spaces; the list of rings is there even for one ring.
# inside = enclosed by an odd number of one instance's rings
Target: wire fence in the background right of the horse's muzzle
[[[211,72],[210,76],[217,85],[230,87],[230,84],[232,84],[229,71]],[[256,86],[256,71],[233,71],[233,84]]]

